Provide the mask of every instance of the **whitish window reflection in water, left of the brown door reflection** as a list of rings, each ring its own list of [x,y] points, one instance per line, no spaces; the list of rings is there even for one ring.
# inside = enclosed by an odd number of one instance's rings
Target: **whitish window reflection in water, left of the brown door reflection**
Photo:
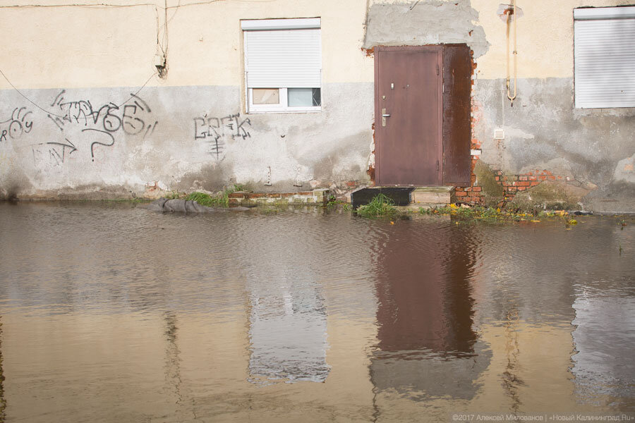
[[[249,321],[252,381],[326,379],[327,317],[315,283],[253,286]]]

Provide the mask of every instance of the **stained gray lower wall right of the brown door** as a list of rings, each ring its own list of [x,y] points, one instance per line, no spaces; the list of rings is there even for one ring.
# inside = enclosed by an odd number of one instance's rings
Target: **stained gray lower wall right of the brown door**
[[[513,107],[504,79],[476,80],[473,97],[485,164],[509,175],[549,171],[590,190],[581,199],[590,210],[635,210],[635,109],[576,109],[572,78],[520,79]]]

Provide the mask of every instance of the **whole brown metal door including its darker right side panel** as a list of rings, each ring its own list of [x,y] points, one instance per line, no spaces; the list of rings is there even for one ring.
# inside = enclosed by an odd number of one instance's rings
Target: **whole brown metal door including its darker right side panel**
[[[469,185],[465,44],[375,47],[375,183]]]

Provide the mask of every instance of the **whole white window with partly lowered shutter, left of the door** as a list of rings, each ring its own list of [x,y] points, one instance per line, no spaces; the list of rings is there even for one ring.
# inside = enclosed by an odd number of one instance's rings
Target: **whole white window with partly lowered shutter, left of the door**
[[[319,111],[320,18],[242,20],[248,113]]]

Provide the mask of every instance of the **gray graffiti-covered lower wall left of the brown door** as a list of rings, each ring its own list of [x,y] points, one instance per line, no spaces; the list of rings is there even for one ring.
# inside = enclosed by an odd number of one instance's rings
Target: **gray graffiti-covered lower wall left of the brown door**
[[[0,91],[0,197],[158,197],[328,188],[366,174],[373,84],[327,84],[322,111],[245,114],[240,87]]]

